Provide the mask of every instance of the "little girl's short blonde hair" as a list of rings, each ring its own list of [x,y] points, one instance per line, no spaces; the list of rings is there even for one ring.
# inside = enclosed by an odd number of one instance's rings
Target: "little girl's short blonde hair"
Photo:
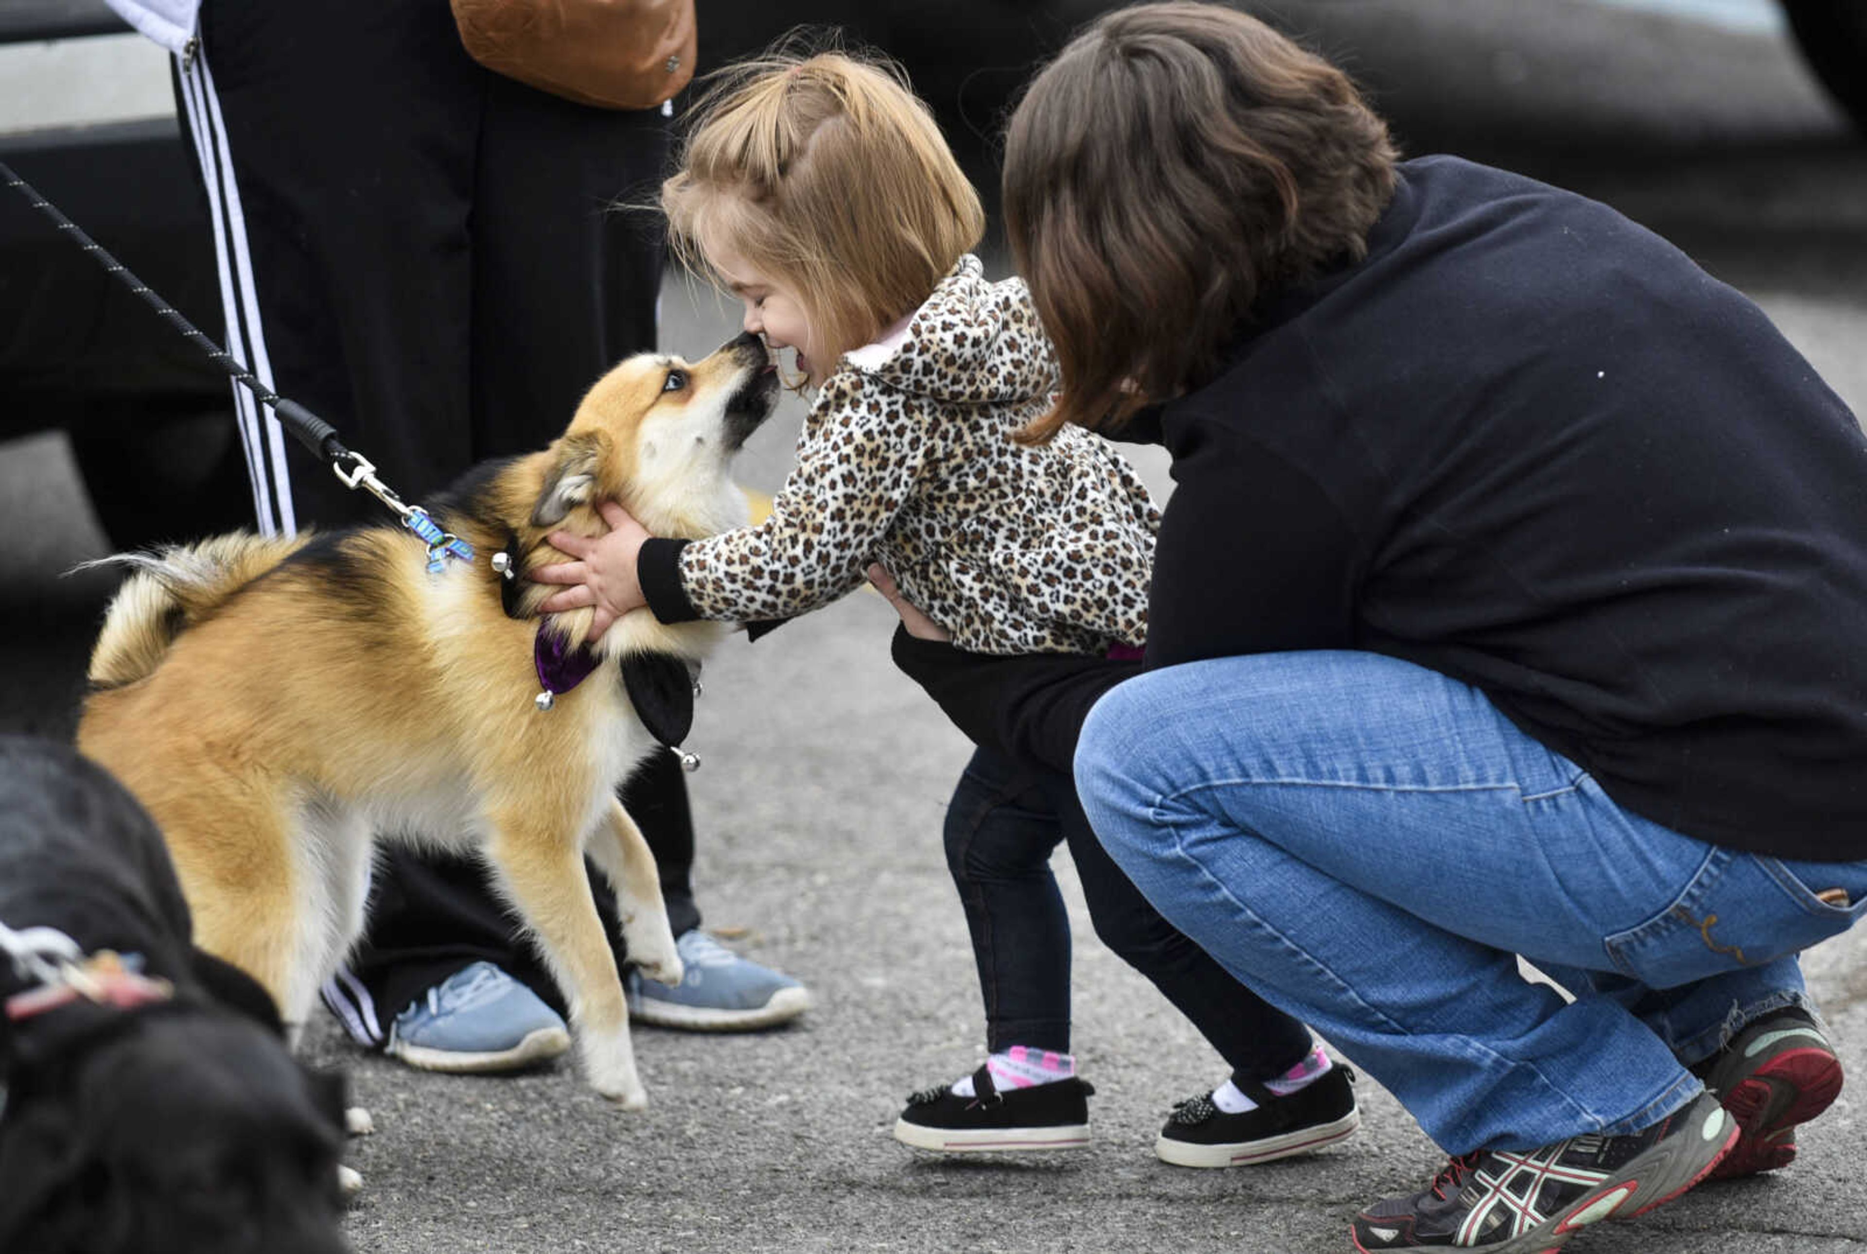
[[[986,215],[902,71],[846,52],[719,75],[661,185],[683,265],[726,244],[793,287],[835,355],[876,338],[978,244]]]

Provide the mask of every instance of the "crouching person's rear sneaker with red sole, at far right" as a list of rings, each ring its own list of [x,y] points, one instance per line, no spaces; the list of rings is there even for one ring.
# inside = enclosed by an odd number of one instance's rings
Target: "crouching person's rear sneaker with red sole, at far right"
[[[1841,1060],[1815,1019],[1794,1008],[1744,1024],[1695,1071],[1740,1129],[1736,1148],[1712,1179],[1789,1166],[1796,1157],[1796,1125],[1841,1094]]]

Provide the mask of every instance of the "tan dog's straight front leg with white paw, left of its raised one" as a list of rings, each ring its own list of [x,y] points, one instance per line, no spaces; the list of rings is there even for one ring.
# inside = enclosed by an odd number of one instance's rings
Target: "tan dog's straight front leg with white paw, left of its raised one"
[[[624,1110],[640,1110],[648,1094],[635,1075],[629,1008],[590,898],[583,842],[566,840],[562,830],[543,830],[536,817],[508,814],[504,819],[495,825],[487,855],[569,1002],[590,1088],[622,1103]]]

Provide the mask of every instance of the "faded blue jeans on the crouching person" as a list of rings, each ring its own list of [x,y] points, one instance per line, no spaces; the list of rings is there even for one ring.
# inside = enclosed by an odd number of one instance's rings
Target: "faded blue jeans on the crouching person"
[[[1090,711],[1075,773],[1159,913],[1451,1153],[1684,1107],[1740,1024],[1813,1011],[1796,954],[1867,909],[1867,862],[1649,823],[1477,689],[1374,653],[1143,674]]]

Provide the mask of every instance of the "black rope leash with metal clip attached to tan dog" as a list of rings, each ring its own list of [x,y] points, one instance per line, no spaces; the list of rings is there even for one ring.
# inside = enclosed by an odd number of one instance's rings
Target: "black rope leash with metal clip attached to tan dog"
[[[110,252],[95,239],[86,235],[77,222],[60,213],[58,205],[41,196],[39,190],[32,187],[32,183],[13,174],[11,166],[7,166],[4,160],[0,160],[0,183],[19,188],[19,194],[24,196],[34,209],[49,216],[62,233],[71,237],[84,252],[91,254],[91,258],[95,258],[97,263],[103,265],[106,272],[114,274],[119,282],[123,282],[123,286],[127,286],[144,304],[147,304],[151,310],[162,315],[175,330],[179,330],[185,340],[189,340],[204,353],[207,353],[207,356],[217,366],[220,366],[220,369],[224,369],[228,377],[233,379],[233,383],[252,392],[261,405],[265,405],[278,416],[278,424],[286,427],[286,431],[289,431],[293,439],[297,439],[301,444],[304,444],[304,448],[312,450],[316,457],[319,457],[330,467],[332,474],[338,476],[338,481],[344,483],[344,487],[351,491],[360,487],[377,500],[381,500],[385,506],[394,509],[396,517],[401,519],[401,524],[407,526],[416,536],[420,536],[422,543],[428,545],[429,571],[439,571],[446,558],[472,562],[472,545],[469,545],[465,539],[459,539],[452,532],[442,532],[441,526],[420,506],[405,504],[392,487],[375,478],[375,465],[368,457],[349,448],[344,448],[344,442],[338,439],[336,427],[332,427],[329,422],[325,422],[312,411],[304,409],[297,401],[289,401],[273,392],[273,388],[265,386],[260,381],[260,377],[246,368],[245,362],[241,362],[237,356],[233,356],[218,343],[209,340],[200,327],[183,317],[175,306],[159,297],[146,282],[136,278],[136,274],[133,274],[127,265],[110,256]]]

